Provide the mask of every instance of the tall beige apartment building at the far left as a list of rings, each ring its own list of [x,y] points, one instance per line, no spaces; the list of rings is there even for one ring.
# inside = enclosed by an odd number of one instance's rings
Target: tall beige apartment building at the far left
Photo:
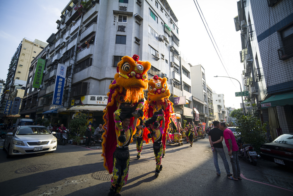
[[[28,38],[23,38],[11,58],[11,63],[8,68],[7,78],[3,89],[4,93],[1,95],[2,108],[3,106],[5,107],[7,100],[13,101],[16,94],[20,96],[20,93],[17,93],[16,90],[25,88],[30,62],[40,53],[40,51],[45,48],[45,46],[47,46],[47,43],[38,39],[30,40]],[[8,113],[9,111],[6,111],[4,112],[4,115],[9,115]]]

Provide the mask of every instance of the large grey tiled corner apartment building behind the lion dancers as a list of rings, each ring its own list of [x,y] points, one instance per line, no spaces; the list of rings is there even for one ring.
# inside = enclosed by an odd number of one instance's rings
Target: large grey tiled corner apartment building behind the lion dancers
[[[117,63],[126,55],[137,54],[139,60],[149,61],[149,78],[166,77],[171,100],[183,95],[178,20],[167,1],[85,2],[90,4],[81,9],[81,1],[69,1],[56,21],[57,32],[47,39],[50,46],[37,103],[43,110],[37,116],[83,112],[89,122],[102,123],[108,86],[114,80]],[[66,71],[64,92],[54,101],[60,66]],[[188,66],[184,69],[189,70]],[[191,86],[187,78],[184,80]],[[184,93],[189,96],[188,91]],[[174,108],[181,118],[182,105]],[[192,110],[192,106],[188,108]]]

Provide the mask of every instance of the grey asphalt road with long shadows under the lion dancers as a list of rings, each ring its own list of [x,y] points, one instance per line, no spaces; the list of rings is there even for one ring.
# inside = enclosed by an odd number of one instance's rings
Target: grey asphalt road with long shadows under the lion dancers
[[[58,145],[54,153],[6,159],[1,150],[0,195],[107,195],[110,175],[101,153],[100,147]],[[236,182],[227,179],[219,160],[222,174],[217,176],[208,139],[199,139],[193,147],[186,142],[167,145],[159,177],[154,176],[152,144],[144,144],[139,160],[136,155],[136,145],[131,144],[122,195],[293,195],[293,170],[272,162],[258,160],[253,166],[240,160],[243,179]]]

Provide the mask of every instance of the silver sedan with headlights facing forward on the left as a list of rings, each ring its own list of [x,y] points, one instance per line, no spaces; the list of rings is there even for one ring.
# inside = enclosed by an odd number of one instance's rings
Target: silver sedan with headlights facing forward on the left
[[[54,152],[57,138],[52,133],[44,126],[17,126],[6,134],[3,150],[7,151],[7,158],[12,155]]]

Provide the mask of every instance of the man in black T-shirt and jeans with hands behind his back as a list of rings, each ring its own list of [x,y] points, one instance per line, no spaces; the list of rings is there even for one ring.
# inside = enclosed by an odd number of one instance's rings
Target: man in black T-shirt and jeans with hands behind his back
[[[223,160],[227,176],[231,176],[232,174],[230,172],[229,163],[227,161],[224,147],[222,144],[224,133],[222,130],[219,129],[219,125],[220,125],[219,121],[214,121],[213,124],[214,124],[214,128],[210,130],[208,134],[209,134],[209,143],[211,144],[211,147],[212,147],[214,165],[216,167],[217,175],[218,176],[221,175],[221,171],[218,164],[218,154],[219,154]]]

